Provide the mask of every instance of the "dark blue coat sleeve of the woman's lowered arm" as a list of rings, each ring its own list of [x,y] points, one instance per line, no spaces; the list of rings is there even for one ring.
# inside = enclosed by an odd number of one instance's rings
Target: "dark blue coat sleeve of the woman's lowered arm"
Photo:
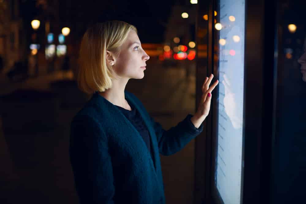
[[[113,204],[115,187],[108,141],[89,116],[71,123],[69,155],[80,203]]]

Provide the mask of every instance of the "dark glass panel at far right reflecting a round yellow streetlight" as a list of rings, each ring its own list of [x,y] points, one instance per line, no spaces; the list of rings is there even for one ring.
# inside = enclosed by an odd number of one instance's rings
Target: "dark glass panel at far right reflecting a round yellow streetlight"
[[[283,0],[278,3],[278,93],[274,203],[305,203],[305,9],[305,1]]]

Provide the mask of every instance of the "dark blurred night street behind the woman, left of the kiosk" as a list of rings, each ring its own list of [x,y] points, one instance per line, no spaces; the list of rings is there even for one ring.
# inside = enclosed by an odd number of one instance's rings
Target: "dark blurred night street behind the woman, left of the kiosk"
[[[169,129],[193,114],[195,59],[164,59],[164,48],[195,41],[195,10],[188,0],[0,0],[0,203],[78,203],[68,146],[70,121],[90,98],[78,90],[74,72],[91,24],[123,20],[136,26],[150,59],[145,77],[130,80],[126,90],[157,122]],[[37,30],[34,19],[40,20]],[[47,58],[48,32],[57,46],[63,27],[70,28],[66,54]],[[31,50],[31,44],[40,48]],[[167,203],[193,202],[194,142],[161,156]]]

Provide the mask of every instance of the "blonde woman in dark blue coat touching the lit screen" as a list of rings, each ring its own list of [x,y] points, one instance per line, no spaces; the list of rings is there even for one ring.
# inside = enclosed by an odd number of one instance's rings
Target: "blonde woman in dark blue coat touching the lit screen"
[[[213,75],[203,84],[194,116],[165,131],[125,91],[142,79],[149,56],[137,30],[122,21],[89,28],[82,39],[77,82],[92,98],[71,123],[70,161],[80,203],[164,203],[159,154],[181,150],[202,131],[210,110]]]

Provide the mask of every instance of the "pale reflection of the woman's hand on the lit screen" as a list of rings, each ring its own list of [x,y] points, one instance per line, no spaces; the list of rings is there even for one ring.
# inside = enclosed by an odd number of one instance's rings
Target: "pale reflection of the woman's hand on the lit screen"
[[[225,96],[223,103],[225,106],[225,113],[228,115],[235,129],[242,127],[242,118],[240,118],[240,113],[237,111],[237,103],[235,101],[235,94],[231,91],[231,83],[229,82],[227,76],[223,75],[224,80],[222,81],[225,87]]]

